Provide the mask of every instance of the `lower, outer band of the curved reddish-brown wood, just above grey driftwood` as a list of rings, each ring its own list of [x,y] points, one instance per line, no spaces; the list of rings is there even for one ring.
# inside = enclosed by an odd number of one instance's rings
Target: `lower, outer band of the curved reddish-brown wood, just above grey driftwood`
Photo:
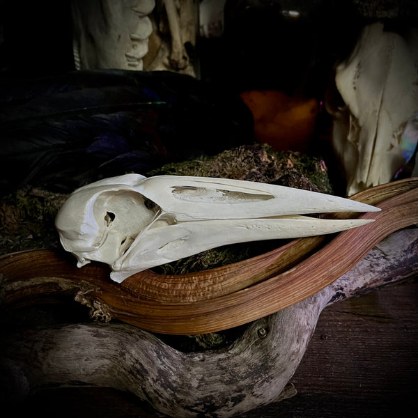
[[[417,224],[418,189],[388,199],[380,207],[381,212],[363,215],[373,217],[376,222],[340,233],[295,268],[212,300],[184,303],[144,300],[131,289],[111,282],[109,271],[102,265],[77,269],[51,251],[29,251],[0,259],[5,302],[10,306],[27,303],[36,296],[72,293],[98,315],[154,332],[200,334],[235,327],[313,295],[350,270],[387,235]]]

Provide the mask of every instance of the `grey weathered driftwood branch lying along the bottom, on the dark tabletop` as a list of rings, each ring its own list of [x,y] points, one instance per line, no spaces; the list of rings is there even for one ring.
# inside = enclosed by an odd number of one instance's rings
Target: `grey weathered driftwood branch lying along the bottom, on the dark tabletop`
[[[418,230],[407,229],[334,284],[249,325],[226,350],[181,353],[130,325],[77,324],[11,336],[3,341],[2,369],[22,396],[43,385],[85,382],[132,392],[171,417],[231,417],[277,399],[324,307],[417,270]]]

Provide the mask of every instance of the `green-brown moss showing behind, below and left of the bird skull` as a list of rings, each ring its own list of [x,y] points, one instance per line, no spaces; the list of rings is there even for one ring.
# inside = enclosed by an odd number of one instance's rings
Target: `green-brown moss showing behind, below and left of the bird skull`
[[[215,157],[167,164],[147,176],[175,174],[235,178],[273,183],[332,194],[327,169],[321,160],[300,153],[276,153],[269,146],[240,146]],[[54,227],[56,213],[67,198],[40,189],[26,188],[0,200],[0,254],[24,249],[59,247]],[[183,274],[228,265],[263,254],[282,241],[258,241],[219,247],[154,270],[161,274]],[[219,349],[242,333],[245,326],[197,336],[164,336],[163,341],[185,351]]]

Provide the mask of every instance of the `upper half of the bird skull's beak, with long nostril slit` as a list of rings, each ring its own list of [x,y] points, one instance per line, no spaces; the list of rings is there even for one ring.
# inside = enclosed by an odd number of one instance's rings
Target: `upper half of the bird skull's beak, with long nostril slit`
[[[223,178],[156,176],[143,180],[138,190],[176,214],[178,222],[380,210],[330,194]]]

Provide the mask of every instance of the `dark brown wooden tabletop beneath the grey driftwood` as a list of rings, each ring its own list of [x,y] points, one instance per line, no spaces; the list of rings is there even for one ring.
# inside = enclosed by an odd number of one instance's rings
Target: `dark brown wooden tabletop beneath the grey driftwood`
[[[291,378],[297,394],[238,417],[408,417],[418,396],[417,318],[417,281],[330,305]],[[17,416],[168,417],[127,392],[82,385],[40,389],[15,411]]]

